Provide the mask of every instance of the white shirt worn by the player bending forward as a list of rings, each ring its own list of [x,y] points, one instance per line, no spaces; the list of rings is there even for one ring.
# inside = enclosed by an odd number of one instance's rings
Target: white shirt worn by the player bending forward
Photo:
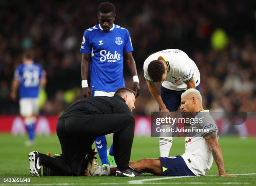
[[[143,65],[144,77],[148,82],[153,82],[148,75],[148,64],[162,57],[168,66],[166,80],[162,86],[171,90],[186,90],[188,82],[194,78],[196,86],[200,84],[200,72],[195,62],[187,54],[178,49],[167,49],[151,54]]]

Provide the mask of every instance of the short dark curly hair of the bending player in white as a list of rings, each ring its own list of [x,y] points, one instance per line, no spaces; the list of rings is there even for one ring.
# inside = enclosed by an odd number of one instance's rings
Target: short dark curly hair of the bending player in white
[[[153,82],[161,82],[164,71],[164,64],[160,60],[154,60],[148,64],[148,75]]]

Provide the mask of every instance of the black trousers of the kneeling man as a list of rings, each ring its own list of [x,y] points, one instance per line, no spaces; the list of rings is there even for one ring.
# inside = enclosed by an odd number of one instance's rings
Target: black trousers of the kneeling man
[[[39,153],[41,164],[61,176],[79,176],[84,156],[98,136],[114,133],[113,148],[117,167],[128,168],[135,120],[129,114],[102,114],[91,117],[60,118],[56,131],[64,160]]]

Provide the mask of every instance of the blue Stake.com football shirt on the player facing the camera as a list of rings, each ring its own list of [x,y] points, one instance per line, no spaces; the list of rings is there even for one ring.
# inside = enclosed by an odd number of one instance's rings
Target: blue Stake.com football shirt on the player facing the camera
[[[91,90],[115,92],[125,87],[123,78],[123,53],[133,51],[127,29],[118,25],[104,32],[100,24],[84,32],[80,52],[91,54]]]

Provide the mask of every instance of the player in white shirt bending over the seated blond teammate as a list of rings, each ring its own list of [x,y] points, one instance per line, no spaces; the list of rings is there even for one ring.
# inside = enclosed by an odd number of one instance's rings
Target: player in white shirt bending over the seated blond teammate
[[[144,62],[143,70],[148,89],[161,112],[176,112],[185,90],[193,88],[200,91],[199,70],[195,62],[181,50],[167,49],[150,55]],[[161,94],[156,82],[161,82]],[[161,157],[168,157],[171,147],[172,137],[159,137]]]

